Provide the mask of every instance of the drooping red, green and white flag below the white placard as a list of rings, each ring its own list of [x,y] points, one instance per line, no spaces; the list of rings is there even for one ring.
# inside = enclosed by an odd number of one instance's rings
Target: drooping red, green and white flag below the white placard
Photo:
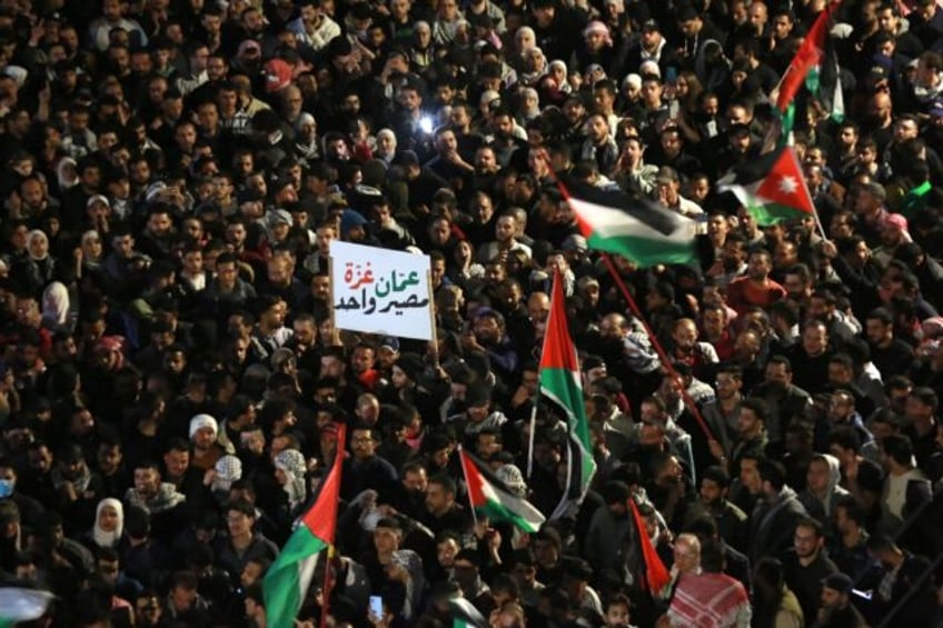
[[[295,625],[295,618],[315,574],[317,556],[334,544],[345,436],[345,425],[338,423],[334,465],[321,480],[311,507],[301,516],[298,527],[262,582],[266,620],[269,626]]]

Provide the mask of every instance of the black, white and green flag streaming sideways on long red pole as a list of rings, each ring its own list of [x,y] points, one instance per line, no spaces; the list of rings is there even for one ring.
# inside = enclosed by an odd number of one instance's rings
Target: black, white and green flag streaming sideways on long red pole
[[[694,260],[696,223],[689,218],[621,190],[574,186],[569,193],[560,187],[590,249],[641,267]]]

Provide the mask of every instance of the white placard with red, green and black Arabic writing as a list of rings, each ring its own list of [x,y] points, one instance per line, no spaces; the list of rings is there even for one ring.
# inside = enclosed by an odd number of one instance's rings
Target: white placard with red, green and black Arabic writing
[[[334,241],[330,263],[338,329],[433,339],[429,256]]]

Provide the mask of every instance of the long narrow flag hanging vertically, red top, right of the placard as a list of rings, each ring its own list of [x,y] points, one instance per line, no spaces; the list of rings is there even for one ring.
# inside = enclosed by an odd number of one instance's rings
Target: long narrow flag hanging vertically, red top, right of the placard
[[[544,350],[540,352],[539,386],[543,400],[550,402],[566,417],[569,428],[567,486],[563,499],[550,515],[550,519],[558,519],[575,514],[589,490],[596,462],[593,460],[589,421],[586,420],[583,402],[579,359],[566,325],[566,302],[559,276],[554,277],[552,292],[550,315],[544,332]]]

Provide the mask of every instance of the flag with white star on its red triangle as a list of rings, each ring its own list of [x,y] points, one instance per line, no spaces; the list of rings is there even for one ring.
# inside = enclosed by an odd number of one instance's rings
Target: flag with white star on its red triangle
[[[793,147],[782,147],[735,167],[717,181],[733,192],[761,226],[815,215],[812,195]]]

